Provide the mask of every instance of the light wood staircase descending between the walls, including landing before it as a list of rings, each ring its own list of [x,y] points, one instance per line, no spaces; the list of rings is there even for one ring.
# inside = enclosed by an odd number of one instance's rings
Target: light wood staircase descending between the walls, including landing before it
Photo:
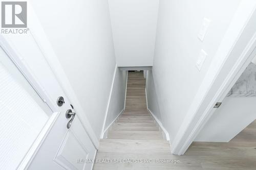
[[[108,137],[100,140],[96,159],[109,162],[95,162],[94,169],[122,170],[167,169],[169,165],[155,161],[174,159],[169,142],[147,112],[143,72],[129,72],[125,111],[108,131]],[[120,159],[125,162],[117,162]],[[135,163],[138,159],[142,162]]]

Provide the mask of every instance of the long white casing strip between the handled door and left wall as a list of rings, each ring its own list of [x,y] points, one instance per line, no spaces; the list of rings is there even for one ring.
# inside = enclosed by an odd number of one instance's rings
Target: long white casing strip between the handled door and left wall
[[[73,87],[71,86],[69,79],[67,78],[65,71],[63,70],[52,46],[50,41],[48,40],[46,33],[42,29],[42,26],[37,19],[36,13],[34,12],[31,4],[28,2],[28,8],[30,9],[30,33],[32,37],[34,38],[35,42],[37,43],[38,47],[40,48],[42,54],[44,55],[46,61],[48,62],[51,70],[53,71],[56,80],[59,82],[60,86],[62,87],[62,90],[65,92],[65,94],[68,96],[69,101],[73,104],[75,107],[77,115],[81,117],[82,126],[84,129],[86,129],[88,136],[92,140],[92,143],[94,144],[95,148],[97,149],[99,147],[99,140],[96,136],[86,114],[84,114],[84,110],[77,99],[77,96],[75,95],[75,92],[73,90]]]

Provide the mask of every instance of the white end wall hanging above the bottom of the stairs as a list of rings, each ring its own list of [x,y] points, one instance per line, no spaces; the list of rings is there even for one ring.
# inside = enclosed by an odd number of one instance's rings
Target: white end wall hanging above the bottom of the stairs
[[[159,0],[109,0],[118,66],[152,66]]]

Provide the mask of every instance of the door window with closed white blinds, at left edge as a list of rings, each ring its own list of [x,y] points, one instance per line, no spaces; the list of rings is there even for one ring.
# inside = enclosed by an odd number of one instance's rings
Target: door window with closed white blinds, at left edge
[[[50,109],[45,103],[42,107],[1,47],[0,82],[0,169],[15,169],[47,123]]]

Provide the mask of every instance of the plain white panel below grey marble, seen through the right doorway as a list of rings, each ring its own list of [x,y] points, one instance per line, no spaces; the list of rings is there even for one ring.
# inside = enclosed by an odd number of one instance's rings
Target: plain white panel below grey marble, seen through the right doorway
[[[227,97],[195,141],[228,142],[256,119],[256,98]]]

